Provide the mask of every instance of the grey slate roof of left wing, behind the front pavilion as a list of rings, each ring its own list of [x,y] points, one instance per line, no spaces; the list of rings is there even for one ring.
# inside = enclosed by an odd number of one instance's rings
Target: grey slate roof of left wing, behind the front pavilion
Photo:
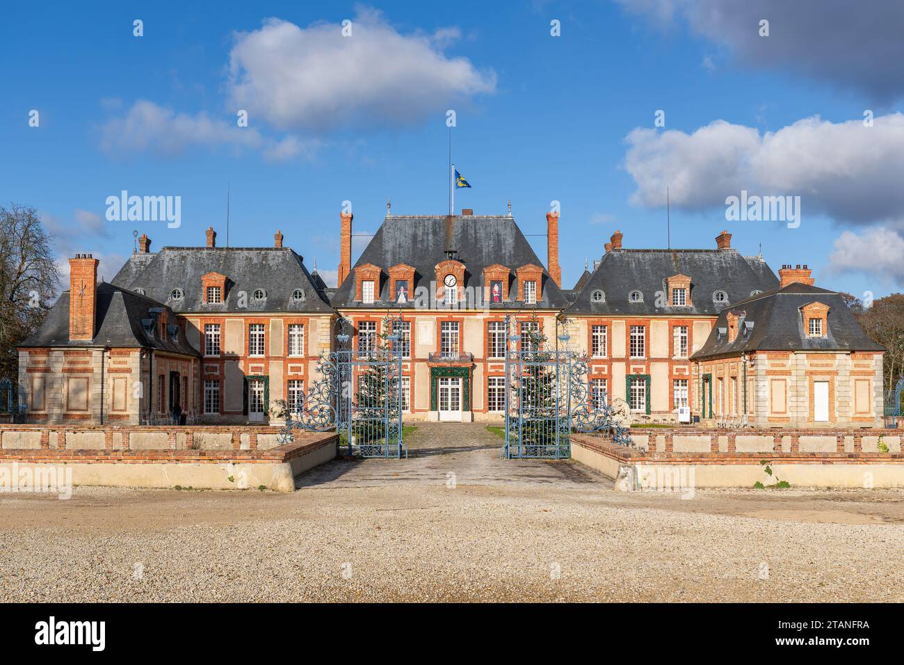
[[[219,272],[227,277],[223,301],[205,304],[202,275]],[[305,267],[302,257],[288,247],[164,247],[156,253],[133,253],[113,283],[127,290],[143,289],[148,297],[175,312],[330,312],[321,288],[323,281]],[[173,299],[174,290],[184,292]],[[294,290],[305,298],[292,299]],[[256,290],[267,298],[252,299]],[[239,307],[240,292],[247,307]]]

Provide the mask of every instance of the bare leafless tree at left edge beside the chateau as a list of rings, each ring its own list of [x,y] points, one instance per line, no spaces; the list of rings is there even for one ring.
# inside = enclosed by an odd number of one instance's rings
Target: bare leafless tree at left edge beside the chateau
[[[41,327],[60,274],[32,207],[0,205],[0,379],[17,379],[15,345]]]

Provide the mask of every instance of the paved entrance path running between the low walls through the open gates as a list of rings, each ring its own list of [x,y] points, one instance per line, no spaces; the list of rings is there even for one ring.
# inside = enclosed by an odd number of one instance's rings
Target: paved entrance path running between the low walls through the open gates
[[[528,484],[572,487],[611,481],[572,461],[503,460],[503,439],[486,423],[418,423],[407,460],[336,460],[296,480],[298,488]],[[454,474],[454,475],[449,475]]]

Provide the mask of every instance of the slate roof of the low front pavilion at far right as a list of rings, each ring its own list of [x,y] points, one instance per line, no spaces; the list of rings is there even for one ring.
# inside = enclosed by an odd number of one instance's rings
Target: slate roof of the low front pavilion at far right
[[[812,302],[829,307],[825,337],[807,337],[800,308]],[[738,323],[738,335],[729,342],[719,328],[728,328],[729,312],[744,313]],[[752,322],[746,329],[744,322]],[[788,284],[752,298],[733,303],[723,310],[706,343],[694,359],[736,356],[744,351],[882,351],[884,347],[867,337],[837,291],[801,283]]]

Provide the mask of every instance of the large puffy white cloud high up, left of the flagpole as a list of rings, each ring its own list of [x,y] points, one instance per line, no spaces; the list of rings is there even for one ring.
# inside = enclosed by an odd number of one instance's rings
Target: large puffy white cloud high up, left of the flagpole
[[[280,129],[381,127],[419,120],[476,94],[493,92],[493,71],[443,52],[455,29],[403,35],[373,10],[359,8],[351,36],[341,24],[301,28],[269,18],[237,33],[228,93]]]

